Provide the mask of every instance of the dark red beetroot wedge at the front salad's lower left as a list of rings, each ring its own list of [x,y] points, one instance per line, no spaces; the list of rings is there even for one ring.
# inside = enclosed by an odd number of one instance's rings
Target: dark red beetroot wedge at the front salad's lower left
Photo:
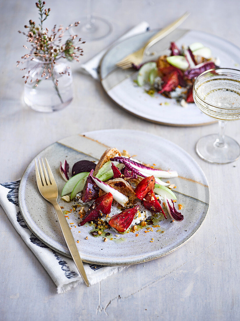
[[[109,214],[111,211],[112,200],[113,197],[111,193],[107,193],[98,197],[89,207],[79,225],[82,226],[89,221],[96,220],[100,217],[105,217],[107,214]]]

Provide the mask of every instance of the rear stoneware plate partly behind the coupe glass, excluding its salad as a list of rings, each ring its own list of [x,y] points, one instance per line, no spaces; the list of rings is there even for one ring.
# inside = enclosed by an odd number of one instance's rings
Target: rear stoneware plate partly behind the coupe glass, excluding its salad
[[[134,82],[137,71],[116,67],[118,61],[141,48],[157,31],[133,36],[110,48],[100,65],[100,79],[104,91],[117,105],[131,114],[155,123],[172,126],[198,126],[213,123],[213,119],[203,114],[193,103],[183,108],[175,100],[160,94],[149,96],[143,87],[138,87]],[[149,51],[155,54],[148,56],[146,61],[156,60],[161,55],[169,55],[168,48],[171,41],[176,41],[179,47],[183,44],[188,46],[193,42],[201,42],[204,46],[211,48],[213,57],[219,57],[221,67],[239,69],[240,48],[208,33],[183,29],[175,30],[151,47]]]

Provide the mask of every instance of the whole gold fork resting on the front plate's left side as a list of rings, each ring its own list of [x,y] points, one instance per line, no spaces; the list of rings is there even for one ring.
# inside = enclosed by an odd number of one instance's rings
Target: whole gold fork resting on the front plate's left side
[[[71,230],[68,226],[68,222],[66,221],[66,218],[62,212],[61,207],[57,203],[57,197],[58,197],[58,188],[56,181],[54,179],[52,170],[48,164],[47,159],[45,158],[46,167],[44,165],[43,159],[41,158],[41,162],[38,158],[38,165],[40,169],[40,174],[37,168],[37,161],[35,159],[35,172],[36,172],[36,179],[37,179],[37,187],[39,189],[40,194],[43,196],[43,198],[46,199],[46,201],[50,202],[54,206],[54,210],[57,215],[58,222],[60,224],[62,234],[64,236],[64,239],[67,243],[67,246],[69,248],[69,251],[71,253],[71,256],[73,258],[74,263],[76,264],[79,273],[81,277],[83,278],[84,282],[87,286],[89,286],[89,282],[87,280],[87,275],[85,273],[82,260],[79,255],[79,251],[77,249],[75,240],[72,236]]]

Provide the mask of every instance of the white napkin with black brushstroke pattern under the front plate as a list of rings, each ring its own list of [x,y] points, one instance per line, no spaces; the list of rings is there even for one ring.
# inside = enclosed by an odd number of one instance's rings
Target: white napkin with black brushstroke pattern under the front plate
[[[15,230],[37,256],[39,262],[56,284],[57,293],[64,293],[79,283],[83,283],[83,279],[72,259],[47,247],[29,230],[18,205],[19,184],[20,180],[0,184],[0,204]],[[127,266],[103,266],[88,263],[83,263],[83,265],[90,285],[100,282]]]

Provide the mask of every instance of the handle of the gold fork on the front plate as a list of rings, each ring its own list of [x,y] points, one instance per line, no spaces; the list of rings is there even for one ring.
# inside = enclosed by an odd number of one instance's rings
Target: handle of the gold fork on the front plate
[[[86,283],[87,286],[89,286],[89,282],[87,280],[87,275],[85,273],[85,270],[84,270],[84,267],[82,264],[82,260],[79,255],[79,251],[77,249],[75,240],[72,236],[68,222],[66,221],[66,218],[65,218],[59,204],[57,202],[51,202],[51,203],[54,206],[54,210],[57,214],[57,218],[58,218],[58,222],[60,224],[61,230],[62,230],[62,234],[64,236],[66,243],[67,243],[67,246],[68,246],[69,251],[71,253],[72,259],[73,259],[74,263],[76,264],[76,266],[79,270],[79,273],[81,274],[81,277],[83,278],[84,282]]]

